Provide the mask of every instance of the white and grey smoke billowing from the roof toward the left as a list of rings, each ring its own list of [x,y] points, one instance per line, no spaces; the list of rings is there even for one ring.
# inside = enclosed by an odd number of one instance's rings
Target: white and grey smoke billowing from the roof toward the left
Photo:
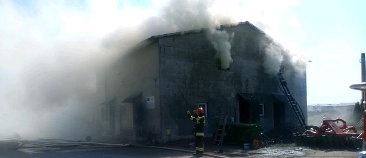
[[[163,7],[150,3],[151,9],[118,5],[112,0],[0,1],[0,135],[85,137],[95,130],[88,124],[100,114],[90,108],[98,104],[91,99],[96,69],[151,36],[200,28],[207,28],[205,35],[216,49],[212,55],[227,68],[234,35],[217,28],[252,20],[243,15],[261,19],[262,14],[238,13],[252,6],[235,0],[170,0],[157,4]],[[272,52],[277,50],[268,47],[266,63],[288,58]]]

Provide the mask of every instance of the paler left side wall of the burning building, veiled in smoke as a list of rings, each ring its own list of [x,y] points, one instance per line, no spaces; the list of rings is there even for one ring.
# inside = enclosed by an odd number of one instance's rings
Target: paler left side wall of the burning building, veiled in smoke
[[[111,125],[104,131],[121,138],[139,139],[150,132],[160,133],[160,97],[159,97],[159,63],[157,42],[133,49],[129,54],[107,66],[99,73],[99,95],[105,95],[105,100],[115,98],[113,108],[114,132],[108,132]],[[122,101],[134,93],[142,92],[139,101],[123,103]],[[103,94],[105,93],[105,94]],[[155,107],[147,108],[146,98],[154,96]],[[101,112],[102,113],[102,112]],[[109,119],[110,123],[111,120]]]

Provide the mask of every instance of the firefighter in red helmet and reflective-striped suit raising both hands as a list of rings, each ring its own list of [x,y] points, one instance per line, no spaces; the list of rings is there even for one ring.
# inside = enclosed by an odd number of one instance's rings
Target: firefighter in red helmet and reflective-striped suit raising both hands
[[[205,126],[205,114],[204,108],[198,108],[193,111],[192,116],[189,111],[187,111],[187,116],[189,119],[195,122],[194,130],[196,134],[196,156],[203,157],[204,156],[204,126]]]

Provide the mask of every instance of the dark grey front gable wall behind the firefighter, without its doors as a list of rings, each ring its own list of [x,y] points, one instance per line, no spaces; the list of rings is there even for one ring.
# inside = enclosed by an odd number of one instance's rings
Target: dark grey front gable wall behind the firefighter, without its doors
[[[173,35],[158,38],[160,63],[161,141],[192,137],[193,123],[185,112],[193,110],[200,102],[208,104],[206,136],[215,130],[215,121],[221,112],[229,118],[239,119],[237,93],[257,94],[259,103],[265,105],[265,116],[261,117],[261,128],[273,128],[273,97],[281,93],[276,77],[264,73],[261,42],[271,42],[254,27],[244,24],[225,29],[235,33],[232,40],[230,70],[218,70],[215,50],[204,33]],[[291,73],[285,75],[294,98],[306,110],[306,78]],[[289,105],[285,119],[296,122]],[[306,115],[306,111],[305,111]]]

